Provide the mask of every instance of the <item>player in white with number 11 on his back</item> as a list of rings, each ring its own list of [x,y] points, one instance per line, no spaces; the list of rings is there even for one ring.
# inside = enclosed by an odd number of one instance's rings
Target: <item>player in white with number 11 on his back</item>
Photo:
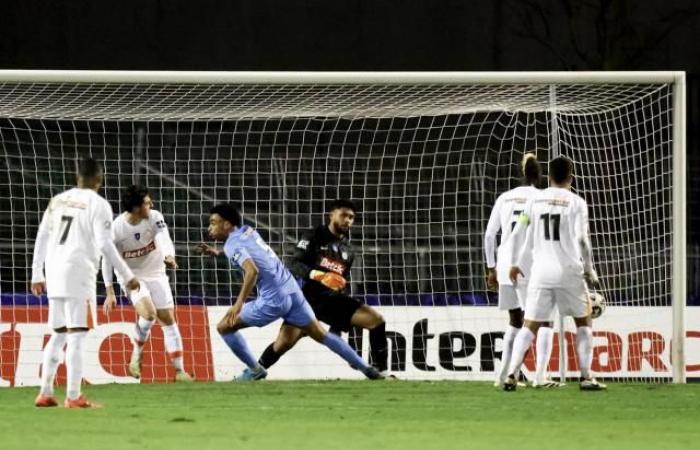
[[[524,275],[522,261],[530,253],[532,273],[525,304],[525,326],[513,344],[509,375],[503,384],[506,391],[515,390],[514,374],[540,324],[552,320],[555,306],[561,315],[572,316],[576,323],[580,388],[590,391],[606,388],[591,374],[593,330],[586,284],[596,286],[598,277],[593,269],[588,236],[588,206],[571,192],[573,167],[573,162],[563,156],[549,163],[550,187],[527,203],[510,237],[513,240],[511,281],[517,285],[518,277]]]

